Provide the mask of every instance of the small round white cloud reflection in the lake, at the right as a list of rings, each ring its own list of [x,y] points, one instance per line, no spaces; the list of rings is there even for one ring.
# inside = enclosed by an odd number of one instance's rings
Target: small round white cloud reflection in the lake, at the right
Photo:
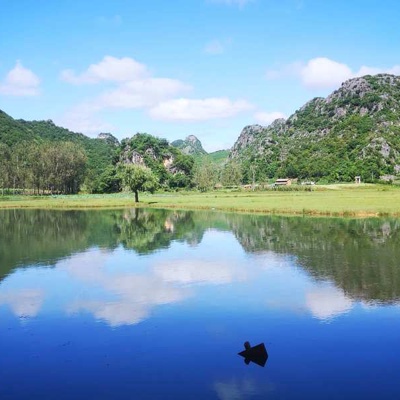
[[[306,306],[314,317],[330,320],[350,311],[353,301],[335,287],[323,287],[306,294]]]

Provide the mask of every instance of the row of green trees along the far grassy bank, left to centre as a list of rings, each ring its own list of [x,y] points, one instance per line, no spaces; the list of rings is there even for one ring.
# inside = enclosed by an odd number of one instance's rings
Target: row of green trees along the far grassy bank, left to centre
[[[116,162],[95,177],[93,189],[86,152],[76,143],[20,142],[12,147],[0,143],[0,188],[2,194],[74,194],[88,188],[96,193],[115,193],[128,189],[138,201],[141,191],[153,192],[159,188],[206,191],[218,183],[237,186],[242,182],[241,167],[234,161],[218,166],[206,157],[197,163],[189,162],[188,157],[177,155],[175,164],[180,172],[169,174],[168,179],[159,166],[152,169]]]

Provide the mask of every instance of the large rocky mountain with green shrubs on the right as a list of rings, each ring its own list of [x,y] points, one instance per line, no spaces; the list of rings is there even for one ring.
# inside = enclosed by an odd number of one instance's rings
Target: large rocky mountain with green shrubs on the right
[[[245,173],[254,165],[259,180],[393,178],[400,172],[400,77],[350,79],[287,120],[247,126],[229,158],[240,161]]]

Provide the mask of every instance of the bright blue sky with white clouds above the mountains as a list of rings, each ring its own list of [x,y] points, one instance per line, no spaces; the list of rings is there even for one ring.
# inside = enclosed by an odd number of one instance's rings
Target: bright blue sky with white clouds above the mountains
[[[0,109],[230,148],[349,78],[400,75],[394,0],[0,0]]]

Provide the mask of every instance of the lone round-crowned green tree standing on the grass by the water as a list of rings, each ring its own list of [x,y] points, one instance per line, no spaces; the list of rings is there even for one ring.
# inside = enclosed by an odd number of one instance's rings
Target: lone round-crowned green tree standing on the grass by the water
[[[119,167],[119,175],[122,184],[135,193],[135,202],[139,202],[139,192],[147,191],[153,193],[158,186],[158,179],[150,168],[124,164]]]

